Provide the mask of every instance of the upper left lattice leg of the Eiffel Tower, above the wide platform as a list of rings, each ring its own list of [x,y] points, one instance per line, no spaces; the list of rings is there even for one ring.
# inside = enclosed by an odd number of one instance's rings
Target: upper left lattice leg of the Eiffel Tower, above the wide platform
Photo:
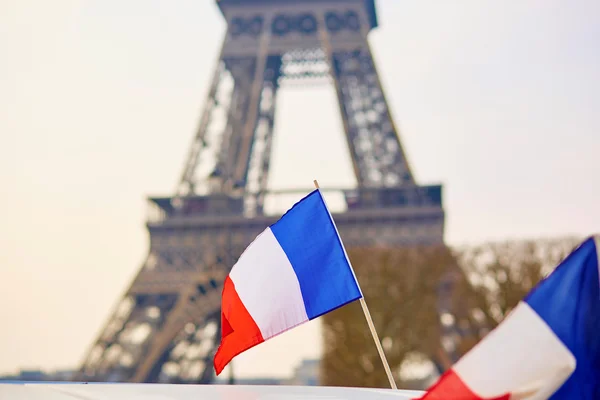
[[[257,54],[252,56],[221,54],[179,193],[194,190],[193,171],[198,169],[199,159],[212,159],[215,186],[209,189],[244,192],[247,215],[262,213],[281,75],[281,56],[268,54],[269,39],[270,30],[267,29],[260,37]],[[227,43],[226,40],[224,49]],[[218,99],[217,91],[224,77],[233,87],[223,99]],[[219,113],[219,106],[226,114],[227,122],[222,128],[211,127],[210,122],[218,119],[213,114]],[[206,149],[204,157],[200,157],[202,148]]]

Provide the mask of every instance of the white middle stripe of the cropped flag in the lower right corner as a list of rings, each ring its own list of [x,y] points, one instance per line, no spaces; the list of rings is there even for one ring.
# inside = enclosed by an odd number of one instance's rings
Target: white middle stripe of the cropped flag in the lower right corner
[[[575,357],[524,302],[453,367],[477,395],[546,398],[575,370]],[[517,390],[515,390],[517,389]],[[548,393],[548,391],[550,392]]]

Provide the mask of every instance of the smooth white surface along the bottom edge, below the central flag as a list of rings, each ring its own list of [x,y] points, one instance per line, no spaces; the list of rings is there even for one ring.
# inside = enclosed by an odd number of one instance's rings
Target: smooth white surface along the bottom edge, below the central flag
[[[407,400],[422,392],[303,386],[0,384],[0,400]]]

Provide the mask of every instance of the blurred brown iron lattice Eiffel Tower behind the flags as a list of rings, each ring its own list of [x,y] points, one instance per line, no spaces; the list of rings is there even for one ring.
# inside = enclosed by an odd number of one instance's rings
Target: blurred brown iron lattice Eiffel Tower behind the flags
[[[367,39],[375,0],[217,3],[227,31],[183,174],[173,196],[149,199],[147,258],[76,380],[214,380],[223,280],[278,218],[264,205],[276,97],[290,82],[335,89],[357,181],[334,214],[346,246],[443,244],[441,186],[415,183]]]

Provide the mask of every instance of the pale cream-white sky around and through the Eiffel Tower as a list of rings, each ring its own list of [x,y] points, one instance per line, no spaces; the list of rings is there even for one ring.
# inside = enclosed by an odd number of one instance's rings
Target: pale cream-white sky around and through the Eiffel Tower
[[[600,226],[600,2],[378,0],[370,36],[450,244]],[[212,0],[0,0],[0,373],[71,368],[148,249],[217,57]],[[353,182],[333,90],[284,90],[271,188]],[[286,204],[285,206],[291,206]],[[288,349],[289,348],[289,349]],[[239,357],[285,376],[318,322]]]

